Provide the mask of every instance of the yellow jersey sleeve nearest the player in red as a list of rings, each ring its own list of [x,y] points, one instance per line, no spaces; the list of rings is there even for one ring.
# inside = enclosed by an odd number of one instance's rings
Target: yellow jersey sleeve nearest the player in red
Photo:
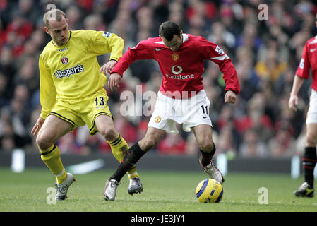
[[[114,33],[89,30],[85,33],[88,42],[88,51],[96,55],[103,55],[111,52],[110,58],[119,61],[124,50],[124,40]]]

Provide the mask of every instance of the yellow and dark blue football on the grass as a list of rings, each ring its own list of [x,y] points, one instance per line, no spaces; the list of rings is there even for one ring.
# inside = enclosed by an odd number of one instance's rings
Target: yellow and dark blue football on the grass
[[[215,179],[204,179],[196,187],[195,194],[201,203],[219,203],[223,195],[223,188]]]

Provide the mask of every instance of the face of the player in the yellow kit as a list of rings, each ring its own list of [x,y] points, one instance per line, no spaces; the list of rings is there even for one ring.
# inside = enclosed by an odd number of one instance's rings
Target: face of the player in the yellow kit
[[[68,20],[64,17],[61,21],[49,21],[49,28],[45,27],[47,34],[51,35],[55,44],[61,46],[68,41]]]

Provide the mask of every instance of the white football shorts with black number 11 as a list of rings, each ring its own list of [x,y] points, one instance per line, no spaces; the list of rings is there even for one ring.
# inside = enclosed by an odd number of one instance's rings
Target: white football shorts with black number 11
[[[193,126],[207,124],[213,126],[209,117],[210,101],[205,90],[188,99],[173,99],[157,93],[157,100],[148,127],[162,129],[167,133],[179,133],[177,124],[190,132]]]

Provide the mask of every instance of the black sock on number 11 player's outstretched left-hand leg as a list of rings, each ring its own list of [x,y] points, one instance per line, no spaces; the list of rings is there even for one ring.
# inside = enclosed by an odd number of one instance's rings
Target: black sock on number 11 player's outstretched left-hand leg
[[[135,167],[136,162],[140,160],[140,158],[145,154],[143,150],[141,150],[138,143],[132,145],[132,147],[127,151],[126,156],[120,163],[116,172],[110,177],[110,179],[115,179],[117,182],[120,182],[121,178],[124,177],[124,174],[128,172],[133,166]]]

